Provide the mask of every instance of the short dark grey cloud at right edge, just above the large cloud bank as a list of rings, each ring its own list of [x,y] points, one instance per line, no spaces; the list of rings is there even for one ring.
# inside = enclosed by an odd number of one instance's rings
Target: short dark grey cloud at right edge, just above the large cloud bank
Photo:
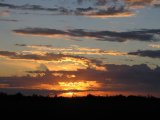
[[[137,52],[129,52],[128,54],[142,57],[160,58],[160,50],[138,50]]]

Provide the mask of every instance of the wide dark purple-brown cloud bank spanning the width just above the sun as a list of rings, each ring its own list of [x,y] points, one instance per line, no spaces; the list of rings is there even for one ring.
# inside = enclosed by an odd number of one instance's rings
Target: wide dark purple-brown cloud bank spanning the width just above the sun
[[[29,74],[37,74],[36,77],[0,77],[1,84],[9,84],[10,87],[28,87],[37,84],[56,85],[58,82],[76,82],[79,80],[96,80],[102,86],[98,91],[125,91],[125,92],[160,92],[160,67],[151,69],[145,64],[141,65],[104,65],[107,71],[93,69],[79,69],[78,71],[30,71]],[[43,73],[43,75],[41,75]],[[54,73],[61,73],[62,76],[54,76]],[[74,78],[67,78],[67,75],[75,75]]]

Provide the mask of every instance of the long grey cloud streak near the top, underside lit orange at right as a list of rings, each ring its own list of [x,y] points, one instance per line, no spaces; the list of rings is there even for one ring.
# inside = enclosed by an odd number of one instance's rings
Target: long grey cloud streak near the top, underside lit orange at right
[[[104,0],[97,1],[96,4],[103,4]],[[37,11],[52,11],[53,14],[58,15],[82,15],[88,17],[123,17],[123,16],[133,16],[133,13],[128,10],[125,6],[110,6],[106,7],[105,9],[97,8],[97,7],[87,7],[87,8],[76,8],[70,9],[65,7],[57,7],[57,8],[46,8],[40,5],[13,5],[7,3],[0,3],[0,7],[7,7],[9,9],[18,9],[18,10],[37,10]],[[56,12],[56,13],[55,13]]]

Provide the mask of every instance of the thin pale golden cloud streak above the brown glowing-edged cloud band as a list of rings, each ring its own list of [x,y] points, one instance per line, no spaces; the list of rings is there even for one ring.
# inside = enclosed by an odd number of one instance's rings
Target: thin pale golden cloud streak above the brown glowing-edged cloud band
[[[69,47],[54,47],[52,45],[27,45],[27,44],[15,44],[19,47],[27,47],[32,49],[30,52],[33,53],[37,51],[40,53],[43,52],[54,52],[61,53],[65,55],[112,55],[112,56],[123,56],[127,55],[125,52],[113,51],[113,50],[102,50],[100,48],[90,48],[90,47],[81,47],[78,45],[70,45]],[[23,51],[25,52],[25,51]],[[29,51],[27,51],[29,52]]]

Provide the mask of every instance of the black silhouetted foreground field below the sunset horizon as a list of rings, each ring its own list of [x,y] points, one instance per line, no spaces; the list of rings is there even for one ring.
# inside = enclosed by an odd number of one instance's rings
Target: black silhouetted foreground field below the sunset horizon
[[[42,97],[0,94],[0,114],[51,118],[108,118],[160,114],[160,99],[139,96]]]

